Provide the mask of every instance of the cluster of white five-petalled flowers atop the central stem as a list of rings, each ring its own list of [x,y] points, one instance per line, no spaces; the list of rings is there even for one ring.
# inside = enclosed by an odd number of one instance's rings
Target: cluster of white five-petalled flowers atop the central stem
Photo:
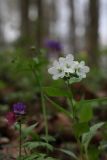
[[[85,66],[85,62],[74,61],[72,54],[67,55],[65,58],[60,57],[58,61],[53,62],[53,66],[48,69],[54,80],[59,78],[86,78],[86,73],[89,72],[89,67]]]

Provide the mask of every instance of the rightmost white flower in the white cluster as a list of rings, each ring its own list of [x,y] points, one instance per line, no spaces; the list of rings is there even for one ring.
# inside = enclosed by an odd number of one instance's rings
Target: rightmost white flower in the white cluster
[[[79,76],[80,79],[86,78],[86,73],[89,72],[89,67],[85,66],[85,62],[81,61],[76,66],[76,74]]]

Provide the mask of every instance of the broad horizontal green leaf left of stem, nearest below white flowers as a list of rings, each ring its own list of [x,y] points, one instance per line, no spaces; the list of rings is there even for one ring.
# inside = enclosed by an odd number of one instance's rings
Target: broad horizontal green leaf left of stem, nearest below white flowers
[[[69,92],[67,92],[65,89],[59,89],[55,87],[43,87],[43,91],[51,97],[69,97]]]

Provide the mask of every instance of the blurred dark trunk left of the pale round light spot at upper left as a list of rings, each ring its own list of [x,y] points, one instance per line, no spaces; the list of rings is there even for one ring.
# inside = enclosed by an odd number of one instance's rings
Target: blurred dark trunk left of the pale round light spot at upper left
[[[21,38],[22,38],[22,41],[24,40],[24,43],[26,45],[30,40],[29,2],[30,0],[20,0]]]

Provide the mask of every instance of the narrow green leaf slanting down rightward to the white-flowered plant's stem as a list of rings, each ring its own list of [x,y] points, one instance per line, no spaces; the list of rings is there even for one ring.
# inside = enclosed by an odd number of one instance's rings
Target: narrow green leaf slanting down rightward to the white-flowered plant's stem
[[[72,118],[72,113],[68,112],[66,109],[64,109],[63,107],[61,107],[59,104],[57,104],[56,102],[54,102],[53,100],[51,100],[49,97],[45,96],[45,98],[60,112],[64,113],[65,115],[67,115],[68,117]]]

